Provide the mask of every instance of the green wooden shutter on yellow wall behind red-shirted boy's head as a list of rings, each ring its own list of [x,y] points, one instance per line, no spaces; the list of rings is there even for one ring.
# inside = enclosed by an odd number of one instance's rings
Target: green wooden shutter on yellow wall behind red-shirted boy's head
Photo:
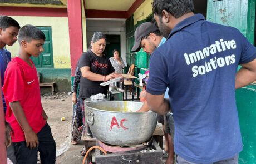
[[[53,68],[53,51],[52,51],[52,28],[51,27],[37,27],[45,34],[45,44],[43,45],[43,52],[39,57],[31,57],[36,68]]]

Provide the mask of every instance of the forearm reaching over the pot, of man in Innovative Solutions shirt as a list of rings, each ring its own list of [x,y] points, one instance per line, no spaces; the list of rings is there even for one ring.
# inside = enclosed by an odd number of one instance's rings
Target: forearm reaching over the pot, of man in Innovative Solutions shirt
[[[169,99],[164,98],[163,95],[152,95],[147,92],[147,105],[149,110],[164,115],[170,111]]]

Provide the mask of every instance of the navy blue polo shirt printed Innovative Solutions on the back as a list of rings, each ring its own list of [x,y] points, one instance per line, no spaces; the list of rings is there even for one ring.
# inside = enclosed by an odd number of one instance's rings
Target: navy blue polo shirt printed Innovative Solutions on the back
[[[242,151],[235,75],[238,64],[255,58],[256,48],[238,29],[201,14],[179,22],[155,49],[146,91],[162,95],[169,87],[176,154],[213,163]]]

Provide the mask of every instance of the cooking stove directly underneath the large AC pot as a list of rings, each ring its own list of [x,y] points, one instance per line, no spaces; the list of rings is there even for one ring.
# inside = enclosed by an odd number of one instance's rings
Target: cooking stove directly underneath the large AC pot
[[[150,138],[149,141],[141,145],[126,147],[107,145],[96,139],[96,145],[107,151],[107,155],[105,155],[99,149],[95,150],[95,162],[97,164],[162,164],[163,151],[154,138]]]

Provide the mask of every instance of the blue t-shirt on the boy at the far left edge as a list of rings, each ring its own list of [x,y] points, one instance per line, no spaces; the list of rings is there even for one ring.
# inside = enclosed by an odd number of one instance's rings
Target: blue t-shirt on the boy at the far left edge
[[[7,64],[11,61],[11,53],[7,49],[0,49],[0,71],[1,71],[1,88],[3,87],[4,72],[6,72]],[[2,92],[3,96],[3,92]],[[3,110],[6,113],[6,101],[3,96]]]

